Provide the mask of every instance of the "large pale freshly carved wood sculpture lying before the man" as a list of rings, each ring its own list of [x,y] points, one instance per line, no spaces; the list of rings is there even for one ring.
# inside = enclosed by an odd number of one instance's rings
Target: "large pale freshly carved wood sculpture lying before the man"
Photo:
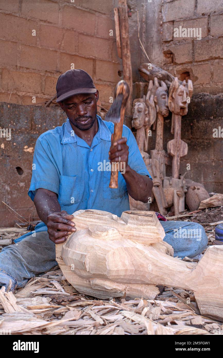
[[[173,254],[154,212],[79,210],[77,232],[56,245],[56,260],[77,291],[105,299],[154,299],[156,285],[194,291],[202,315],[223,320],[223,246],[209,246],[195,266]]]

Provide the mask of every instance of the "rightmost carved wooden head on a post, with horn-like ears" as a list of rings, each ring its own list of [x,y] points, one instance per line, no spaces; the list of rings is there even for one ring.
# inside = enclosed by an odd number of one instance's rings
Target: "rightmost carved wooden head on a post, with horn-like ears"
[[[185,116],[188,112],[187,98],[192,97],[192,94],[193,84],[190,79],[187,83],[184,80],[182,84],[179,84],[178,78],[174,77],[169,88],[168,105],[170,111],[176,115]]]

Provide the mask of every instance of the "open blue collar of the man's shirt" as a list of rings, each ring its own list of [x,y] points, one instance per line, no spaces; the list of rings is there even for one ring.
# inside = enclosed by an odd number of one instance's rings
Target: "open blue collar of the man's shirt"
[[[111,132],[102,121],[101,117],[97,115],[98,120],[98,131],[95,136],[99,136],[103,140],[111,140]],[[61,141],[61,144],[75,143],[77,142],[77,135],[74,133],[74,130],[71,127],[69,118],[67,118],[67,123],[64,129],[64,135]]]

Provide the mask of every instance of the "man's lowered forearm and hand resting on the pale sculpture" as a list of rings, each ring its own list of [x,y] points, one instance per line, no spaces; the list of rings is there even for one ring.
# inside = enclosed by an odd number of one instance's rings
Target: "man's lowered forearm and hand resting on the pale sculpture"
[[[66,241],[68,235],[76,231],[75,224],[71,221],[73,215],[61,211],[56,193],[39,188],[34,197],[34,204],[39,218],[47,225],[50,240],[55,244]]]

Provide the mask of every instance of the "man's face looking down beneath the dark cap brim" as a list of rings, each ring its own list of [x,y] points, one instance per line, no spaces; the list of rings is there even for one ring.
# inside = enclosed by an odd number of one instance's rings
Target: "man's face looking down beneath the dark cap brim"
[[[70,122],[82,131],[90,129],[96,119],[98,91],[81,93],[59,102]]]

